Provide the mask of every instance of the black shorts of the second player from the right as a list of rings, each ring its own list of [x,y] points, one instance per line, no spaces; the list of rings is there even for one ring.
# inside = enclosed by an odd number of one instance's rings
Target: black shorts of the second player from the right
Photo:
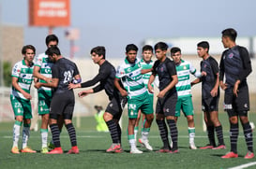
[[[203,98],[202,99],[203,112],[218,111],[218,100],[219,100],[219,95],[216,97]]]

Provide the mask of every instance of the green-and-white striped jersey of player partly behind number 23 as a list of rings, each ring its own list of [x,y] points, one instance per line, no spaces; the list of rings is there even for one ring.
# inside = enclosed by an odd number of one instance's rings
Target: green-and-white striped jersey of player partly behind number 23
[[[50,60],[50,58],[48,57],[48,55],[46,55],[45,53],[41,53],[38,55],[37,59],[36,59],[36,63],[35,66],[40,67],[40,74],[44,77],[52,77],[52,66],[53,66],[53,62]],[[39,79],[39,82],[42,83],[46,83],[46,81]],[[45,92],[52,92],[52,88],[48,88],[48,87],[41,87],[38,89],[39,91],[45,91]]]

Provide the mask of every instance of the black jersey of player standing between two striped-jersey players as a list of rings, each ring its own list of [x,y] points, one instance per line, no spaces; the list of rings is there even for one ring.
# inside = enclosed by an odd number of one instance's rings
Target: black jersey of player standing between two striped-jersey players
[[[175,64],[169,58],[166,58],[163,63],[156,61],[153,65],[154,75],[159,78],[159,91],[165,89],[172,81],[174,75],[177,75]],[[176,92],[176,88],[172,88],[169,93]]]

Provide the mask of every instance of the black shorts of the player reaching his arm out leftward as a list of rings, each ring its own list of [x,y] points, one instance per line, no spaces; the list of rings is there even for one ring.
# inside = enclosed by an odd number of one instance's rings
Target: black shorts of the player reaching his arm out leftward
[[[120,120],[122,112],[126,104],[128,103],[127,97],[116,96],[113,97],[105,112],[113,115],[114,120]]]

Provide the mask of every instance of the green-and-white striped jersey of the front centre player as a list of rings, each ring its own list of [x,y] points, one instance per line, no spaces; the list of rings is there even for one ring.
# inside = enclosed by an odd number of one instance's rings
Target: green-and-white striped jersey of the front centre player
[[[143,83],[142,66],[137,59],[135,63],[129,63],[128,59],[121,63],[117,67],[115,77],[121,79],[129,99],[141,97],[147,92]]]

